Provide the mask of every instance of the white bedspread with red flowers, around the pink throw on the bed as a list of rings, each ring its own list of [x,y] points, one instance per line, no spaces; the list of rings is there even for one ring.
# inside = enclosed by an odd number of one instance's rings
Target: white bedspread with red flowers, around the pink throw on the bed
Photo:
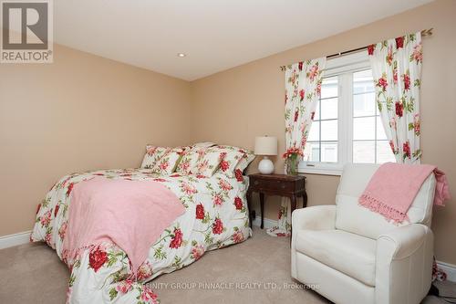
[[[86,249],[73,260],[62,255],[71,191],[76,183],[94,176],[163,183],[186,208],[150,247],[149,257],[136,278],[129,258],[115,244]],[[158,176],[148,169],[74,173],[58,181],[39,205],[30,238],[46,241],[69,267],[67,302],[158,303],[157,295],[143,283],[192,264],[208,250],[243,242],[251,235],[245,198],[247,186],[248,179],[244,176],[228,178],[223,173],[211,178]]]

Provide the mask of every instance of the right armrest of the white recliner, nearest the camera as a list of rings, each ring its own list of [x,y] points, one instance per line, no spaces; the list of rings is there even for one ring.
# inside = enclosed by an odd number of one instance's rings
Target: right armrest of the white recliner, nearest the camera
[[[376,303],[420,303],[430,288],[434,236],[410,224],[378,236]]]

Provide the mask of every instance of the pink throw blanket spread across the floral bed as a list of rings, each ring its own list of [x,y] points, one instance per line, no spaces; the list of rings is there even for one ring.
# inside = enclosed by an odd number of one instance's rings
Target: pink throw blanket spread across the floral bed
[[[71,193],[64,257],[114,242],[130,258],[133,273],[150,246],[185,212],[179,198],[161,183],[95,177],[77,183]]]

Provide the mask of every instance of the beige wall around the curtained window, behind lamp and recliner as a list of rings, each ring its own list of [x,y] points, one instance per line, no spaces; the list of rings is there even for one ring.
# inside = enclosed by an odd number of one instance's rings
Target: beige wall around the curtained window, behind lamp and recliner
[[[196,80],[192,83],[193,139],[252,148],[255,136],[270,134],[279,138],[279,151],[283,152],[285,80],[280,66],[434,27],[434,35],[424,39],[421,147],[423,162],[436,164],[445,171],[456,195],[455,15],[456,1],[437,1]],[[277,160],[275,167],[280,172],[283,162]],[[309,204],[333,204],[338,178],[315,174],[306,176]],[[276,219],[277,211],[278,201],[269,201],[266,217]],[[456,245],[451,241],[456,231],[456,200],[434,211],[436,256],[442,261],[456,264]]]

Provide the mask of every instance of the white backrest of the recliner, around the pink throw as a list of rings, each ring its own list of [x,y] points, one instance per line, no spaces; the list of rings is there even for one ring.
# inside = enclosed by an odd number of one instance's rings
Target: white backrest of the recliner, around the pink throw
[[[360,236],[377,239],[381,234],[398,225],[391,223],[378,213],[358,204],[370,178],[378,169],[377,164],[347,164],[337,188],[336,228]],[[435,176],[430,174],[409,208],[409,221],[399,225],[420,223],[430,226],[432,203],[435,192]]]

